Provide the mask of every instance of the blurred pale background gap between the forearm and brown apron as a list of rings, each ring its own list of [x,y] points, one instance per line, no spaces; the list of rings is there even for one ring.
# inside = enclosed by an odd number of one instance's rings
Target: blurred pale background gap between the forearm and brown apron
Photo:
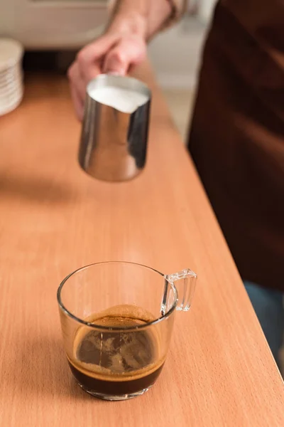
[[[149,46],[156,77],[184,140],[195,100],[204,38],[217,0],[190,0],[188,3],[182,21],[160,33]]]

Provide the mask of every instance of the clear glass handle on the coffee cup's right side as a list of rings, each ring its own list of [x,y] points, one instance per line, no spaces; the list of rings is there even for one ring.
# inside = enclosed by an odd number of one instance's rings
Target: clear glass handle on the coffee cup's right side
[[[190,270],[190,268],[185,268],[185,270],[182,270],[179,273],[165,275],[165,282],[174,285],[178,291],[178,302],[176,310],[190,310],[190,306],[192,305],[192,298],[195,294],[196,281],[197,275],[192,270]]]

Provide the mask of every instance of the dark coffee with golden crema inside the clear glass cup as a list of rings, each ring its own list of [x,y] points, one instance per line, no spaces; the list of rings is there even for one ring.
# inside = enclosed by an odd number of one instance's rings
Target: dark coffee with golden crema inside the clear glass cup
[[[155,317],[140,307],[111,307],[86,321],[121,330],[90,330],[80,327],[74,339],[71,371],[80,386],[92,394],[135,394],[152,386],[163,368],[160,339],[155,327],[124,331],[146,325]]]

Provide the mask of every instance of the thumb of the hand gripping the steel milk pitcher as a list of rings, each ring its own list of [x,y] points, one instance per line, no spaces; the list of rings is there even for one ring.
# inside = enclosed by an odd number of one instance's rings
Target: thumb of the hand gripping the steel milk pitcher
[[[124,39],[107,54],[103,73],[126,75],[132,65],[138,65],[146,56],[146,45],[138,39]]]

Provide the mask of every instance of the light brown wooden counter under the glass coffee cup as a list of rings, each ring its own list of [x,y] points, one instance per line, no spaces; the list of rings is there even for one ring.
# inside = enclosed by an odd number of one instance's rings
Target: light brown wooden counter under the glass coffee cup
[[[0,117],[0,425],[284,426],[283,381],[224,237],[147,66],[138,75],[153,118],[146,170],[129,183],[80,170],[65,78],[29,78]],[[62,348],[60,280],[99,260],[199,275],[163,374],[131,401],[84,394]]]

